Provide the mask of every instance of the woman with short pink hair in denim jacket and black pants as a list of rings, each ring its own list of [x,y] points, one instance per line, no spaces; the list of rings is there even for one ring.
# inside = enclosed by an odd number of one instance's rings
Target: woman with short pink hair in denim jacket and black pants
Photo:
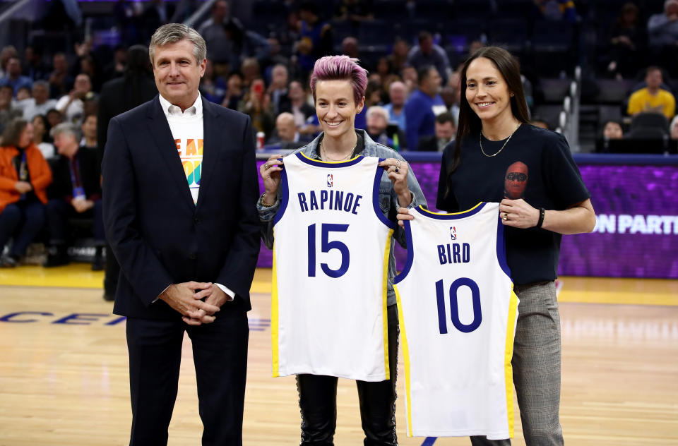
[[[309,145],[297,150],[310,159],[323,162],[345,162],[359,155],[379,157],[383,168],[379,183],[379,211],[396,222],[399,207],[426,206],[422,190],[408,163],[398,152],[375,143],[364,130],[354,126],[355,116],[364,107],[367,71],[348,56],[326,56],[318,61],[311,74],[311,92],[321,134]],[[296,152],[295,152],[296,153]],[[262,164],[260,173],[266,191],[257,203],[263,241],[273,248],[273,224],[280,209],[280,172],[282,155],[272,155]],[[291,156],[291,155],[290,155]],[[387,380],[366,382],[357,380],[360,416],[365,433],[365,445],[396,445],[396,369],[398,363],[398,310],[393,291],[396,260],[393,239],[405,246],[405,232],[396,225],[391,239],[388,262],[387,313],[388,363]],[[375,277],[379,280],[379,277]],[[341,336],[338,332],[336,336]],[[299,407],[302,413],[302,445],[333,445],[336,427],[337,378],[326,375],[297,375]]]

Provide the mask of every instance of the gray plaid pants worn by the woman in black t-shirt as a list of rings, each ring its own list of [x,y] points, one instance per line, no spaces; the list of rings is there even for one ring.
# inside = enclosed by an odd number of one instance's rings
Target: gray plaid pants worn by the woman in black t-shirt
[[[516,285],[518,323],[513,385],[528,446],[563,445],[560,426],[560,315],[554,282]],[[471,437],[473,446],[509,446],[511,440]]]

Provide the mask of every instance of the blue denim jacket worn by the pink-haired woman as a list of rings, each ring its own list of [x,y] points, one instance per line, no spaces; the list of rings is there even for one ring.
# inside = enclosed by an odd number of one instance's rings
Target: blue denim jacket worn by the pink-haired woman
[[[367,135],[367,132],[364,130],[356,129],[356,133],[362,135],[365,141],[364,150],[359,152],[358,155],[362,155],[364,157],[396,158],[400,159],[400,161],[405,161],[405,159],[395,150],[386,147],[385,145],[375,143],[373,140],[371,140],[369,135]],[[323,133],[311,141],[309,145],[305,145],[304,147],[301,147],[292,153],[303,152],[304,155],[307,155],[309,158],[320,159],[317,148],[322,137]],[[409,207],[416,207],[419,205],[427,207],[426,198],[424,198],[422,188],[419,186],[419,182],[415,178],[415,174],[411,168],[408,171],[408,188],[410,188],[410,192],[412,192],[412,203],[410,203]],[[263,195],[256,203],[256,210],[259,213],[259,222],[261,223],[261,238],[268,249],[273,249],[273,217],[275,217],[275,213],[278,212],[278,209],[280,208],[280,188],[278,188],[278,198],[275,200],[275,205],[270,207],[264,206],[261,203],[262,198]],[[396,191],[393,190],[393,183],[391,183],[391,180],[388,179],[386,170],[384,170],[383,174],[381,174],[381,183],[379,184],[379,207],[386,218],[396,222],[396,214],[398,213],[398,207],[400,207],[400,205],[398,205],[398,195],[396,195]],[[407,243],[405,241],[405,230],[401,228],[400,225],[397,225],[396,230],[393,231],[393,237],[391,238],[391,258],[388,260],[387,305],[389,306],[396,303],[396,293],[393,291],[393,276],[396,275],[396,258],[393,255],[393,248],[395,247],[396,240],[398,243],[400,243],[400,246],[403,246],[403,248],[407,247]]]

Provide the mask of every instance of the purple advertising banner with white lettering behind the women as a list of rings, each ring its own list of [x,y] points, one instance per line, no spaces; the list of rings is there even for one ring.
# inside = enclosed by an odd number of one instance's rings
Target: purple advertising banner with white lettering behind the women
[[[575,157],[591,193],[597,224],[591,234],[563,236],[559,274],[677,279],[678,162],[631,164],[641,159],[629,158],[629,163],[617,164],[613,155],[608,156],[607,164],[600,157],[595,162],[589,162],[592,157]],[[408,158],[429,208],[436,210],[439,155]],[[396,243],[399,269],[405,257],[406,251]],[[270,267],[272,260],[271,251],[262,244],[258,266]]]

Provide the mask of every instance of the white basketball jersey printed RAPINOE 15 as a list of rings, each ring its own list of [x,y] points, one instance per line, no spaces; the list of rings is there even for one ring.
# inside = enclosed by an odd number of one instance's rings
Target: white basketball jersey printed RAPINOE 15
[[[379,158],[285,157],[273,220],[273,376],[388,379],[386,284],[395,224]]]

